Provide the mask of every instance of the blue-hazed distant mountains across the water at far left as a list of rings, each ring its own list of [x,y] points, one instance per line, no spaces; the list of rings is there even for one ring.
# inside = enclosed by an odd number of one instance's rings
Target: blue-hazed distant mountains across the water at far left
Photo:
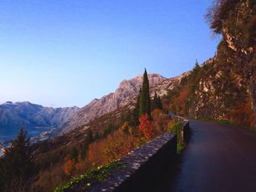
[[[78,107],[42,107],[29,101],[16,103],[7,101],[0,105],[0,128],[58,127],[78,109]]]

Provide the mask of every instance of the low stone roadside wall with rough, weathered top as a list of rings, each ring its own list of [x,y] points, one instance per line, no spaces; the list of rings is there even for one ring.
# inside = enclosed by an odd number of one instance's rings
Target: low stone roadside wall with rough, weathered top
[[[89,191],[152,191],[175,158],[176,149],[176,134],[165,133],[121,158],[124,169],[113,170]]]

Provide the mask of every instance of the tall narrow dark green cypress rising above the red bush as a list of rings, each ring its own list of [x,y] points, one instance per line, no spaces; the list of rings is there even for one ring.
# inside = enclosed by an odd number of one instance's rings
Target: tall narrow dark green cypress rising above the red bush
[[[149,96],[149,82],[148,74],[145,69],[143,74],[143,85],[140,93],[140,117],[142,115],[148,114],[148,118],[151,118],[151,100]]]

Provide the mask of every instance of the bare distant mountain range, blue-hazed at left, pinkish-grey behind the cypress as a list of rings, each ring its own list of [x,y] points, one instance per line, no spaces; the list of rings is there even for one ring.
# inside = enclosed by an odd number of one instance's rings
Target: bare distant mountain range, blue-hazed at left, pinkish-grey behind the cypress
[[[148,74],[151,87],[151,97],[154,93],[163,96],[168,89],[172,89],[181,78],[189,74],[166,78],[160,74]],[[120,107],[132,109],[135,99],[142,85],[143,74],[129,80],[124,79],[119,83],[113,93],[108,93],[100,99],[93,99],[84,107],[44,107],[32,104],[29,101],[7,101],[0,104],[0,128],[56,127],[57,132],[67,133],[79,126],[84,126],[95,118],[106,115]]]

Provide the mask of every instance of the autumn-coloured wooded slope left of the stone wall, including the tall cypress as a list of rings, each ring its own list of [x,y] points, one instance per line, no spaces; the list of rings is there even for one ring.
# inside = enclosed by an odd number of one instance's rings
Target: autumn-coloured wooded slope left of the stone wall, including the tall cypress
[[[132,110],[129,107],[121,107],[56,139],[22,146],[29,151],[27,156],[33,163],[29,181],[23,185],[22,181],[26,178],[23,178],[23,174],[5,174],[8,170],[0,169],[4,181],[0,191],[19,191],[20,188],[53,191],[56,187],[59,187],[56,191],[70,191],[74,183],[69,181],[74,178],[77,178],[75,183],[83,183],[86,184],[83,187],[89,187],[91,183],[105,177],[108,169],[118,167],[119,165],[114,163],[117,159],[165,131],[177,132],[176,120],[170,120],[169,115],[163,111],[162,101],[157,93],[153,98],[149,96],[146,71],[142,84]],[[19,151],[19,147],[15,147],[13,151],[16,150]],[[7,157],[12,162],[12,156],[16,155],[10,153],[9,156],[4,157],[2,161],[0,159],[0,166],[7,164]],[[17,172],[22,171],[23,169],[17,166],[18,161],[15,158],[14,164],[10,163],[8,167],[15,166]],[[28,166],[30,168],[29,164]],[[12,188],[11,183],[15,183]]]

